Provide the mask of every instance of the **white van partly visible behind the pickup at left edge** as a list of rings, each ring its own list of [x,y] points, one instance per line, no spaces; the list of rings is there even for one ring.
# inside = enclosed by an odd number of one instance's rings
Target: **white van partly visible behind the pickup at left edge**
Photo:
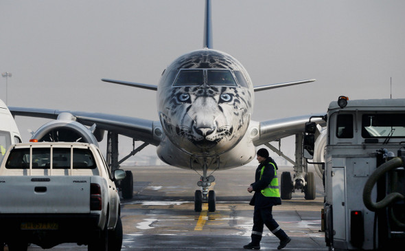
[[[16,122],[3,100],[0,100],[0,163],[10,145],[21,142]]]

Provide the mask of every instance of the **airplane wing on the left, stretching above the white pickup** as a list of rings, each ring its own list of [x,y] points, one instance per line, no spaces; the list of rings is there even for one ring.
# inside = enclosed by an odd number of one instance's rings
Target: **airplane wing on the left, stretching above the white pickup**
[[[141,140],[148,144],[157,146],[160,142],[158,137],[154,137],[154,129],[161,127],[160,121],[144,120],[141,118],[131,118],[127,116],[117,116],[105,113],[90,113],[84,111],[68,111],[54,109],[36,109],[24,107],[9,107],[13,116],[29,116],[36,118],[57,119],[60,113],[71,113],[76,118],[76,122],[86,126],[96,125],[97,129],[113,131],[136,140]]]

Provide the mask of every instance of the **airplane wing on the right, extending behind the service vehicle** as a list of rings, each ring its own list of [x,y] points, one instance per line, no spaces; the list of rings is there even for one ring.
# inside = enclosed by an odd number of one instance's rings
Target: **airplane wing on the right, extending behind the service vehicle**
[[[324,115],[325,113],[316,113],[259,122],[259,137],[253,141],[253,144],[255,144],[255,146],[259,146],[274,140],[286,138],[290,135],[301,133],[305,129],[305,122],[308,122],[311,116]],[[321,120],[321,118],[312,118],[311,121],[317,122],[322,127],[326,126],[326,122]]]

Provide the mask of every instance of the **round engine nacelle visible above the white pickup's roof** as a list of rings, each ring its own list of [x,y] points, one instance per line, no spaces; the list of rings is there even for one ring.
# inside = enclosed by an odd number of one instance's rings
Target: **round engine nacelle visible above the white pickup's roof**
[[[60,113],[56,120],[52,120],[40,127],[32,139],[38,142],[85,142],[98,146],[93,134],[94,129],[87,128],[76,121],[71,113]]]

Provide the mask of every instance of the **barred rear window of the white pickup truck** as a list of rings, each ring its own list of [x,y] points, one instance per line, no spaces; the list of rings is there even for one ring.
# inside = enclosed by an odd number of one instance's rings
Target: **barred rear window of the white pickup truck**
[[[70,148],[54,148],[52,157],[52,168],[68,169],[71,163]],[[32,168],[49,169],[51,166],[50,148],[32,149]],[[73,149],[73,168],[75,169],[94,169],[96,168],[93,154],[89,149]],[[12,149],[5,168],[10,169],[29,169],[30,168],[30,149]]]

